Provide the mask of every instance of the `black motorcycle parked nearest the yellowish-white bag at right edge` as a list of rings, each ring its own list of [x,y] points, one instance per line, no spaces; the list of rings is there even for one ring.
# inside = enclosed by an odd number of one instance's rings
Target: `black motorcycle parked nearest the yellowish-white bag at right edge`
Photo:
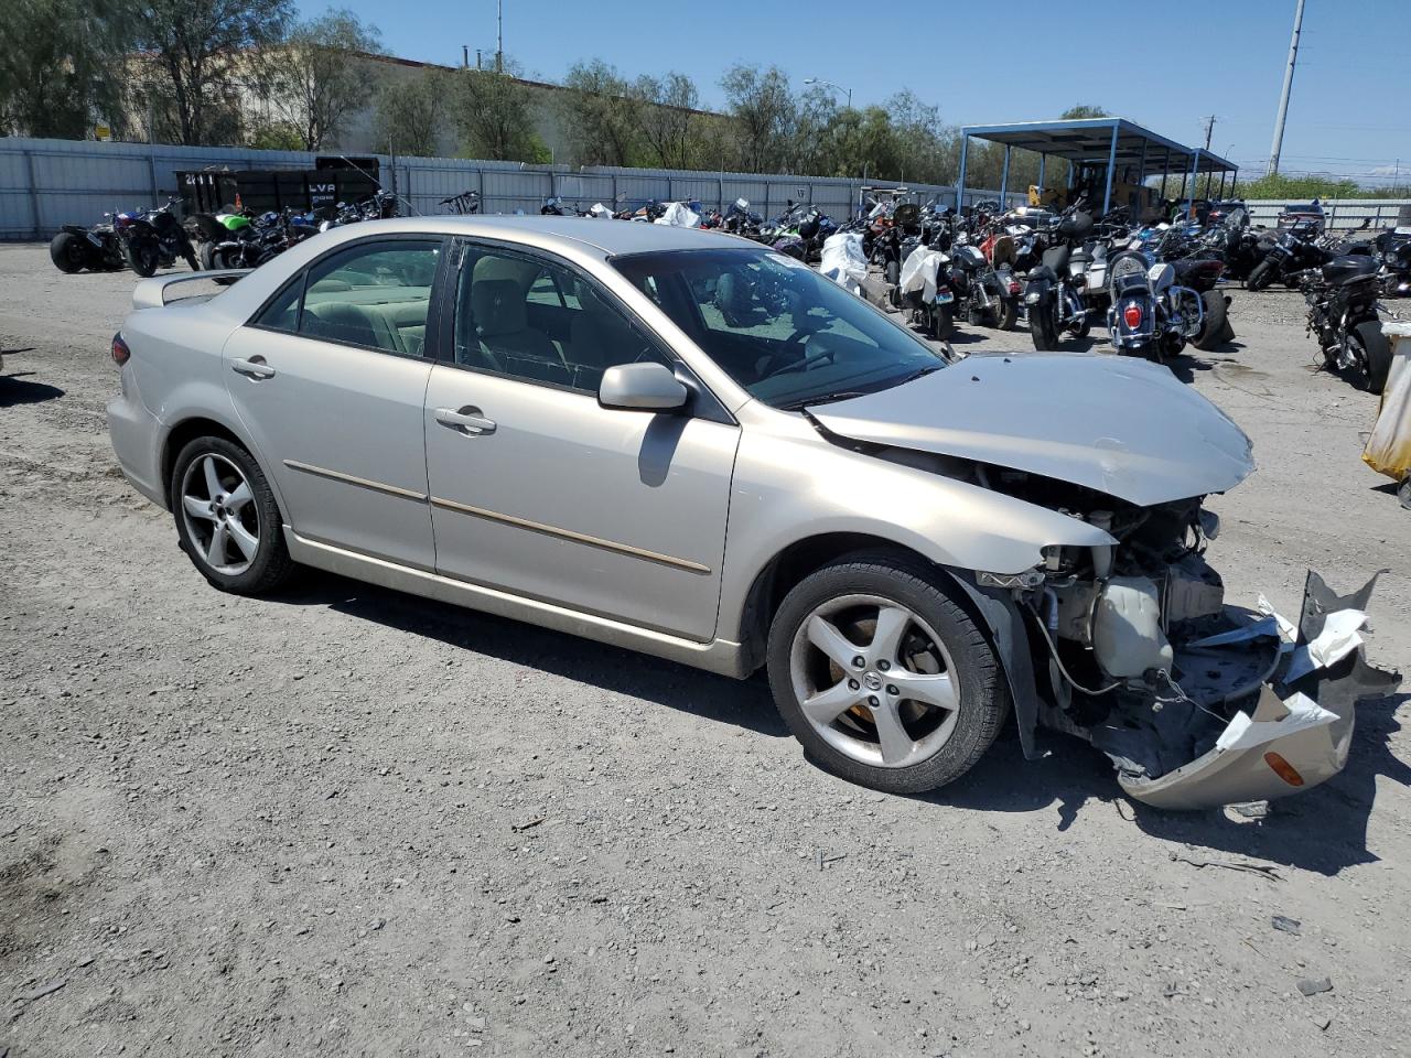
[[[1391,370],[1391,344],[1377,316],[1380,276],[1369,254],[1335,257],[1300,276],[1308,302],[1308,333],[1331,371],[1359,389],[1380,394]]]

